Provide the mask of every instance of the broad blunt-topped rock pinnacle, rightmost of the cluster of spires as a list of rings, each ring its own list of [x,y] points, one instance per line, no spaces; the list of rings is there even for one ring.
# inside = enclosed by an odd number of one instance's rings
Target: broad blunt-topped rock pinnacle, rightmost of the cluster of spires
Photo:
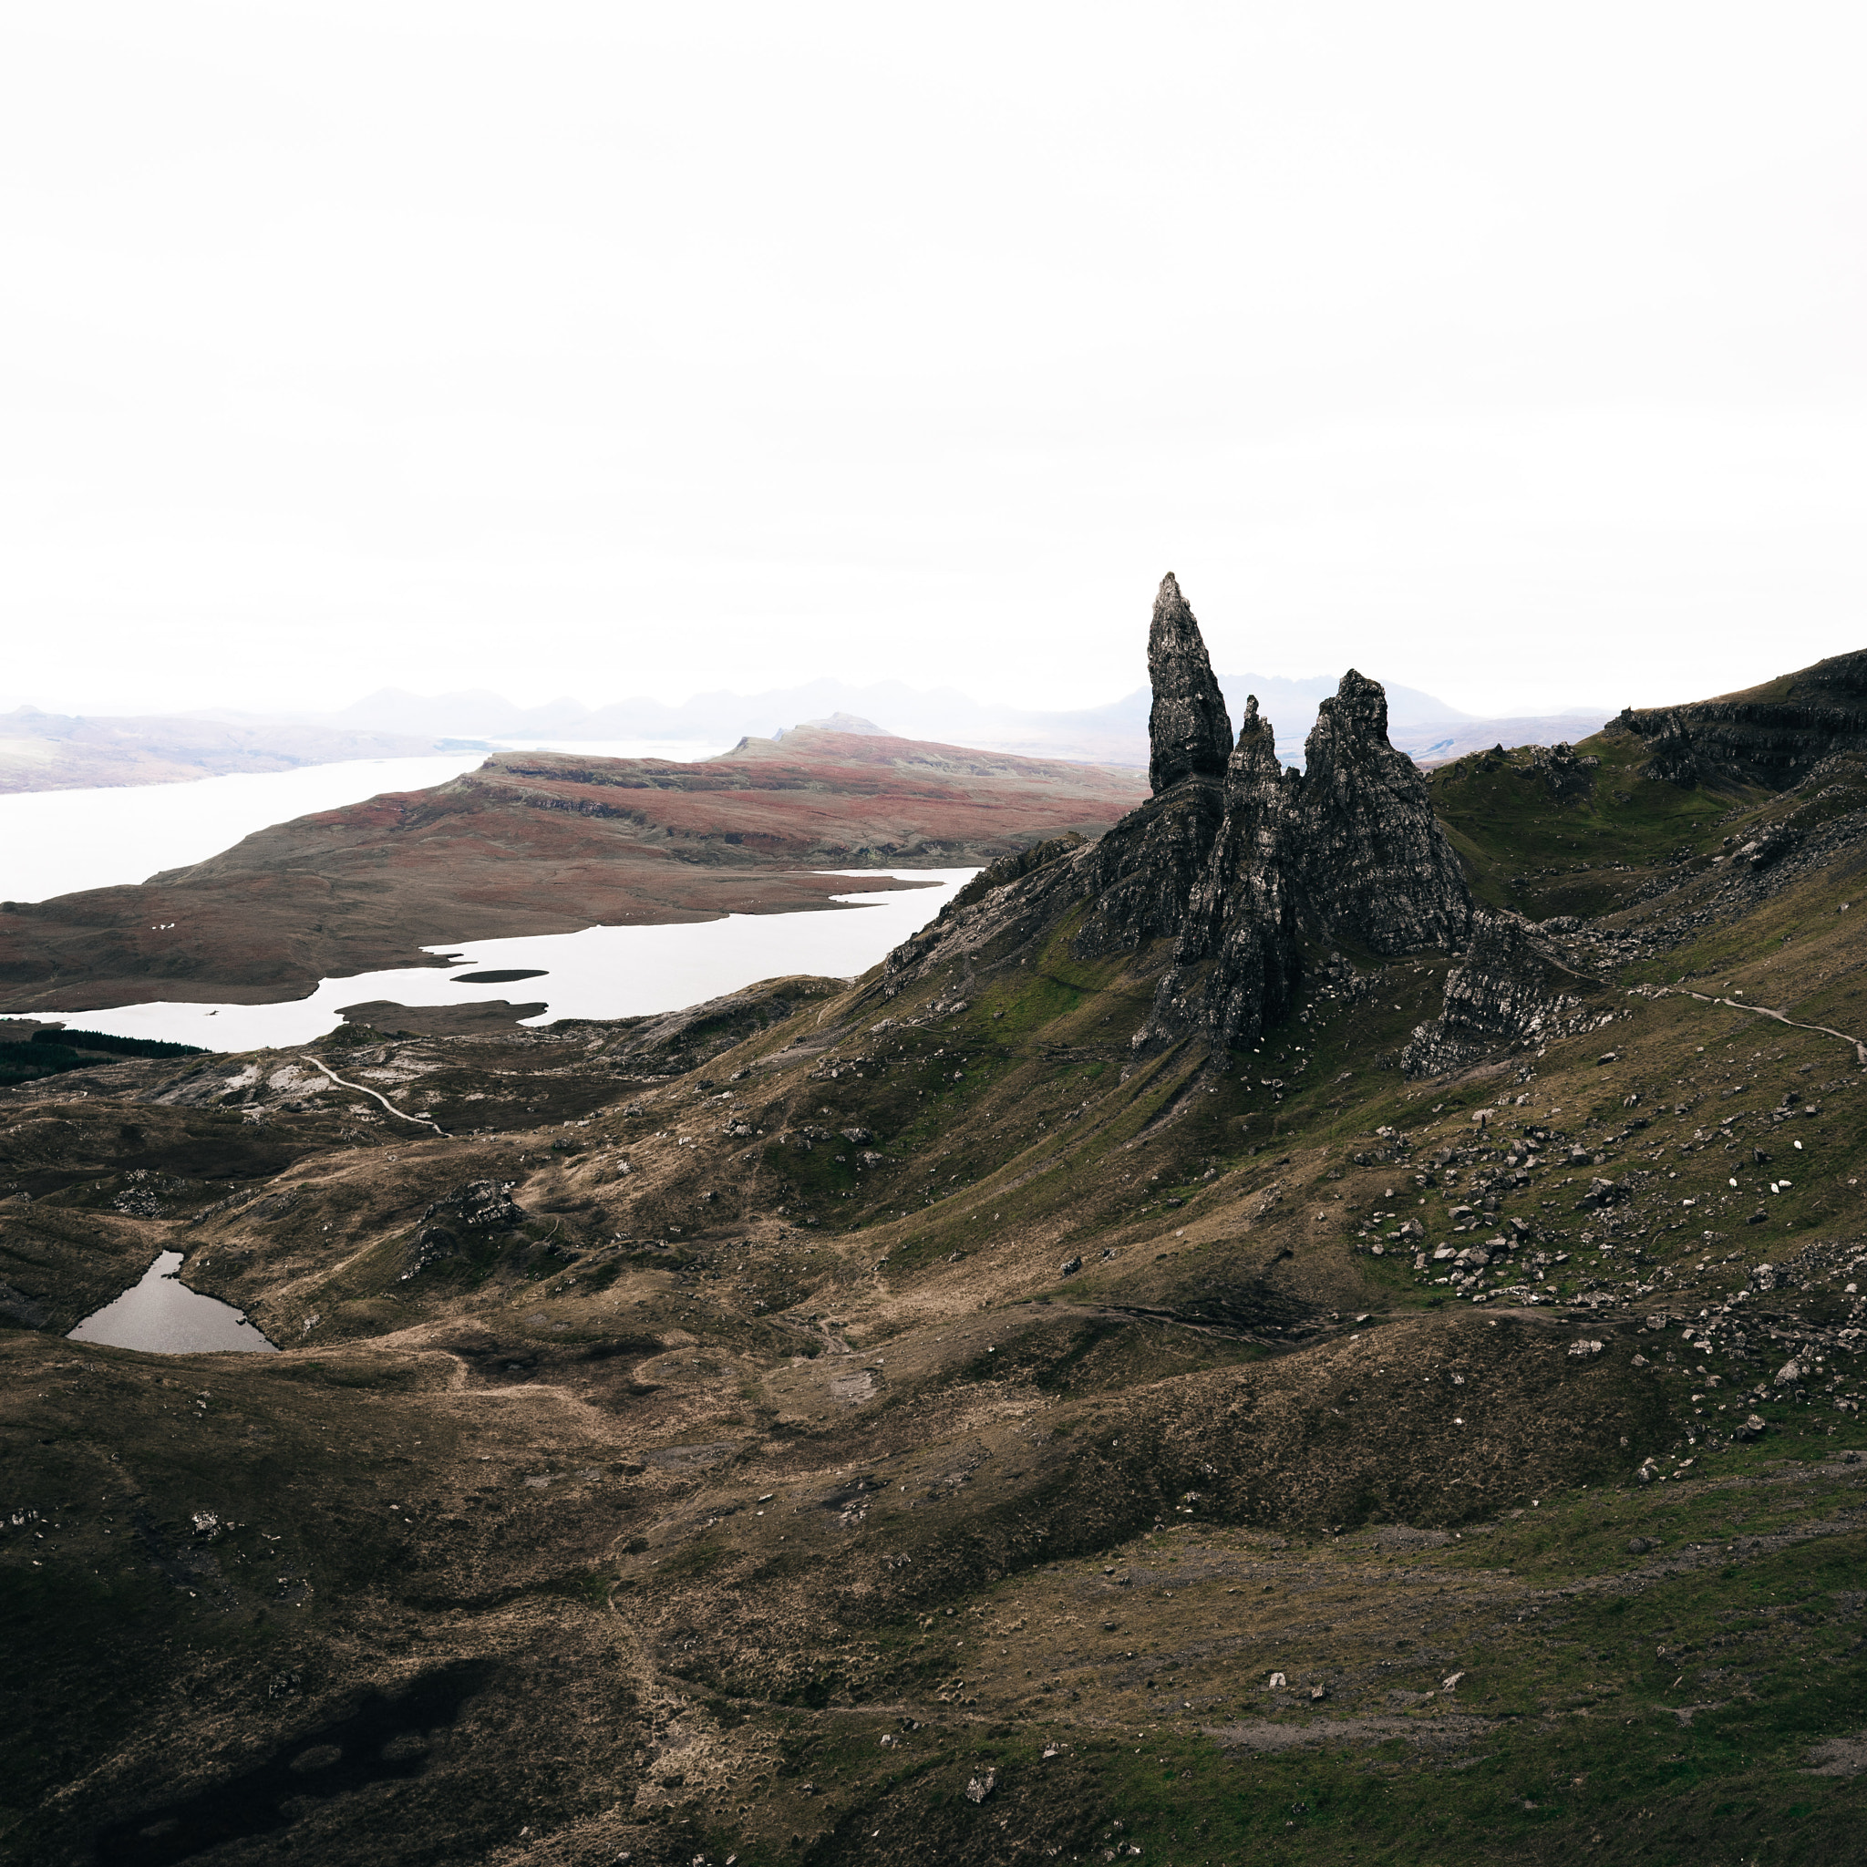
[[[1471,891],[1421,769],[1387,739],[1387,695],[1350,668],[1324,700],[1294,788],[1307,930],[1378,954],[1460,947]]]

